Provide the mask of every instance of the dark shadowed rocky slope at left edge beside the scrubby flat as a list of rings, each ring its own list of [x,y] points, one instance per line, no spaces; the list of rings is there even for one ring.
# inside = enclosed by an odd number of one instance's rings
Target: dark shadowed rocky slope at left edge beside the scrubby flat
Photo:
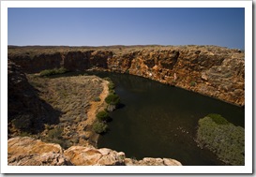
[[[20,66],[8,60],[8,132],[37,133],[44,124],[58,123],[59,111],[38,97]]]

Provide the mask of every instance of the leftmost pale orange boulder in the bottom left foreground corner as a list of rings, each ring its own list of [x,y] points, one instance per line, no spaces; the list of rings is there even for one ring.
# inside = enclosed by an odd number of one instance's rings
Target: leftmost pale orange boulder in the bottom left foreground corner
[[[63,166],[70,165],[59,144],[45,143],[29,137],[8,140],[8,165]]]

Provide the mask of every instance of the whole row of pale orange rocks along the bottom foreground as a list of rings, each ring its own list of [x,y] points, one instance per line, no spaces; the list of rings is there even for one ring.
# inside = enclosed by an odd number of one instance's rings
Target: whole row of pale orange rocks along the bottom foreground
[[[68,150],[58,144],[29,137],[8,140],[8,165],[12,166],[181,166],[171,158],[126,158],[123,152],[97,149],[91,145],[71,146]]]

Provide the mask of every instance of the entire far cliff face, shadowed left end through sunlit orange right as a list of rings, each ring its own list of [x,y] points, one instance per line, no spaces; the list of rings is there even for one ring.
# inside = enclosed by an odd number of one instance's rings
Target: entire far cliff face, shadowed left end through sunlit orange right
[[[124,48],[125,49],[125,48]],[[129,73],[245,105],[244,52],[217,46],[158,47],[116,52],[101,49],[83,52],[8,54],[25,72],[64,66],[70,70],[91,67]]]

